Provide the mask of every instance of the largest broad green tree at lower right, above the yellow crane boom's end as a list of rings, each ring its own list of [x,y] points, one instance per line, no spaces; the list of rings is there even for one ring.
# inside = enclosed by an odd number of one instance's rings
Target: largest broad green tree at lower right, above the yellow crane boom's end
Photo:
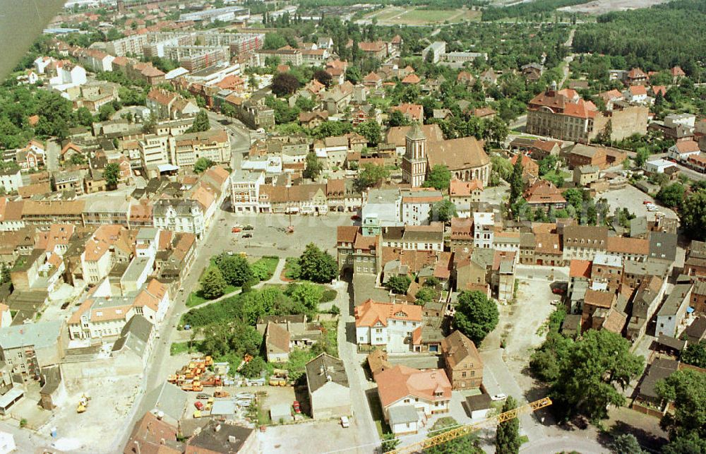
[[[645,359],[630,353],[630,342],[609,330],[588,330],[574,342],[559,365],[551,398],[566,417],[583,414],[592,421],[608,416],[608,405],[620,406],[625,388],[642,373]]]

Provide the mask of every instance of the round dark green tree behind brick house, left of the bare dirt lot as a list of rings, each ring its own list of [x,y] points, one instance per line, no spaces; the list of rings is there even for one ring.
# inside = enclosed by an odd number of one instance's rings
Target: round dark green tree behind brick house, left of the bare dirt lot
[[[479,345],[498,325],[498,305],[483,292],[464,291],[458,296],[453,324]]]

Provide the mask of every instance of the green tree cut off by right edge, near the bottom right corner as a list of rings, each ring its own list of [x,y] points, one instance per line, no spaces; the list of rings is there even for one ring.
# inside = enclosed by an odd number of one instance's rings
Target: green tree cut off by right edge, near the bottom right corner
[[[682,369],[658,381],[654,390],[674,403],[674,413],[667,412],[659,422],[671,439],[692,435],[706,438],[706,374]]]

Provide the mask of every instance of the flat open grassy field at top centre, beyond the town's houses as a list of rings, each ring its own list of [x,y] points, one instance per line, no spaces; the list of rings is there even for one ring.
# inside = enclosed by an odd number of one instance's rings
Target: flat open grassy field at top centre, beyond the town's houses
[[[462,20],[480,20],[480,16],[480,11],[471,11],[467,8],[437,10],[387,6],[368,14],[363,20],[369,23],[375,18],[378,20],[378,25],[433,25],[444,23],[447,20],[450,23]]]

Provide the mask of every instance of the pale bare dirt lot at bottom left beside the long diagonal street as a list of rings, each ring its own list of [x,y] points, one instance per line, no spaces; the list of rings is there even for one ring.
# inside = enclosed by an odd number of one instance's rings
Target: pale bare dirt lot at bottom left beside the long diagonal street
[[[59,437],[76,440],[83,452],[107,453],[114,450],[113,436],[125,424],[138,392],[139,377],[123,376],[100,380],[83,380],[66,383],[66,401],[57,407],[54,416],[41,429],[56,427]],[[88,410],[76,413],[81,395],[90,395]]]

